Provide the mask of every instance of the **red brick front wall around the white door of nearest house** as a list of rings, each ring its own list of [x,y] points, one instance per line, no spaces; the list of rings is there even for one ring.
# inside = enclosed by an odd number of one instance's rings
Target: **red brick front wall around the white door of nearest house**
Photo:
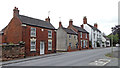
[[[31,37],[30,36],[30,29],[31,27],[36,28],[36,37]],[[43,29],[43,31],[41,30]],[[45,43],[45,54],[49,53],[54,53],[56,50],[56,32],[52,30],[52,50],[48,50],[48,30],[51,29],[46,29],[46,28],[40,28],[40,27],[35,27],[35,26],[29,26],[26,25],[25,27],[22,28],[22,37],[23,41],[25,42],[25,50],[26,50],[26,55],[27,56],[35,56],[35,55],[40,55],[40,41],[44,41]],[[36,51],[30,51],[30,39],[36,39]]]

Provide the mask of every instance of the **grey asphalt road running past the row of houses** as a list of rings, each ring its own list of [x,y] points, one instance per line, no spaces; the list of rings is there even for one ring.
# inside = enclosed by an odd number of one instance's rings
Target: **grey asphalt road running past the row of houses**
[[[114,48],[113,50],[116,51],[118,48]],[[118,59],[105,56],[105,54],[109,52],[111,52],[111,48],[67,52],[62,55],[13,63],[6,66],[99,66],[99,63],[94,63],[99,59],[107,59],[110,61],[100,66],[118,66]]]

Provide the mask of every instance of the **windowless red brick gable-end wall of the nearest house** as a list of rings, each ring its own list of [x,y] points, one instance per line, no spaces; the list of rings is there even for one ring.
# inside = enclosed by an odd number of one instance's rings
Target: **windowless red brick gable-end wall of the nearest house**
[[[22,27],[18,17],[13,17],[3,32],[3,43],[17,44],[19,41],[22,41]]]

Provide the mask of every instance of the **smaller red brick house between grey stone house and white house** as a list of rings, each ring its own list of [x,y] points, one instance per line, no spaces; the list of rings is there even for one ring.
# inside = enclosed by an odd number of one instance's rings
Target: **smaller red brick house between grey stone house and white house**
[[[78,33],[78,46],[79,49],[87,49],[89,48],[89,33],[83,29],[82,27],[73,25],[73,21],[69,21],[69,29],[74,30]]]

